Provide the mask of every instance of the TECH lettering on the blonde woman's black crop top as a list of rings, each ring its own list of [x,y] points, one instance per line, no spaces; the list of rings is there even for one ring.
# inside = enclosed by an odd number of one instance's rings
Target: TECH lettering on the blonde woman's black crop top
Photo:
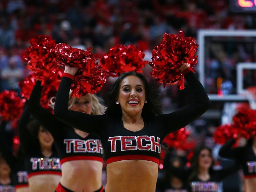
[[[64,139],[66,144],[66,153],[100,153],[103,154],[103,148],[98,139]]]

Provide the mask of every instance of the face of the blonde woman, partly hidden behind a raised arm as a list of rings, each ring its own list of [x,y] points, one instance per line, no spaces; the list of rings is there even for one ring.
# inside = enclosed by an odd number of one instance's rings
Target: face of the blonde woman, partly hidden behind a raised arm
[[[73,111],[79,111],[82,113],[92,114],[92,98],[90,95],[85,95],[78,98],[75,98],[74,104],[70,108]]]

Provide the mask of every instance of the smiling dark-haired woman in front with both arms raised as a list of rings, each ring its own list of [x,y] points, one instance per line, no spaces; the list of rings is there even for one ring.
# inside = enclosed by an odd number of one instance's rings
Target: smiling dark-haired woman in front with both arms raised
[[[113,85],[104,115],[68,109],[69,89],[78,68],[65,66],[57,92],[54,115],[71,127],[97,134],[107,159],[106,192],[156,190],[161,141],[201,116],[210,101],[187,64],[180,71],[194,94],[195,103],[162,115],[161,100],[140,73],[123,73]]]

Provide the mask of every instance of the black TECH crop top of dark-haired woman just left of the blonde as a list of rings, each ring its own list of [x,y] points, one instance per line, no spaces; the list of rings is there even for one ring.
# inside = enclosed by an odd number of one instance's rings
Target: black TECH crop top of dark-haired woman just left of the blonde
[[[61,175],[60,158],[55,146],[52,147],[52,155],[45,157],[40,147],[31,141],[32,135],[27,129],[29,117],[28,106],[25,106],[19,120],[19,136],[28,178],[40,174]]]

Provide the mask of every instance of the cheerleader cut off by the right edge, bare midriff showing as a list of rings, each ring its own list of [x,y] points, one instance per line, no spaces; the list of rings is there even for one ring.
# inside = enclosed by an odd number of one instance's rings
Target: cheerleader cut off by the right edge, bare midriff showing
[[[245,191],[254,192],[256,189],[256,138],[248,140],[244,147],[232,148],[235,142],[235,139],[227,141],[220,148],[219,155],[239,161],[244,172]]]

